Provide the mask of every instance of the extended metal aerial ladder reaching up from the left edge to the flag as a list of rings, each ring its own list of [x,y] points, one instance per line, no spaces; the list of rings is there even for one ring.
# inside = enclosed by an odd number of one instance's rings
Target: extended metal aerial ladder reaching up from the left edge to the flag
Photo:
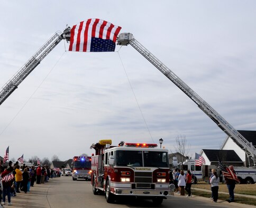
[[[56,32],[30,59],[23,67],[17,71],[13,77],[6,82],[0,91],[0,105],[13,93],[19,84],[40,64],[52,49],[62,40],[70,40],[70,28],[67,27],[63,33]]]

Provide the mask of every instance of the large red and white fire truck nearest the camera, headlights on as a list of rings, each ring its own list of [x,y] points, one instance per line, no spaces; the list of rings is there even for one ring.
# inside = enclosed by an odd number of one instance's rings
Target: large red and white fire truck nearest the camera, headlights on
[[[133,196],[152,199],[155,204],[173,195],[168,150],[157,148],[157,144],[111,144],[111,140],[100,140],[90,147],[96,152],[91,182],[95,195],[105,193],[108,203],[117,196]]]

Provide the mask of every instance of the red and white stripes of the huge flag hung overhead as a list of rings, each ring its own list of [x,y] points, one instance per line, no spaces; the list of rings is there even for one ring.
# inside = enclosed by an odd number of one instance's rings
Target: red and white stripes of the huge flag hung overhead
[[[92,37],[112,40],[115,43],[121,28],[98,18],[80,22],[70,31],[69,51],[89,52]]]

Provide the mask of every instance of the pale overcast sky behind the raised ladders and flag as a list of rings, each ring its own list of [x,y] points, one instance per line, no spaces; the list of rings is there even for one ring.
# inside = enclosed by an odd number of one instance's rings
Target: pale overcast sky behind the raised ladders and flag
[[[0,2],[0,87],[54,32],[101,18],[133,33],[235,129],[256,130],[255,1]],[[132,46],[82,53],[65,52],[68,45],[60,42],[0,106],[1,156],[10,146],[10,158],[66,160],[92,154],[100,139],[162,138],[174,151],[180,135],[192,157],[220,148],[222,130]]]

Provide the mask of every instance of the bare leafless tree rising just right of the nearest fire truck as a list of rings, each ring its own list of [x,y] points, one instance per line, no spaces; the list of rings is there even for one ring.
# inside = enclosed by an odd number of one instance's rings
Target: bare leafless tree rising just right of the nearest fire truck
[[[190,150],[190,144],[188,143],[185,135],[180,135],[176,137],[176,146],[174,146],[174,149],[175,152],[179,153],[177,155],[178,162],[185,162]]]

